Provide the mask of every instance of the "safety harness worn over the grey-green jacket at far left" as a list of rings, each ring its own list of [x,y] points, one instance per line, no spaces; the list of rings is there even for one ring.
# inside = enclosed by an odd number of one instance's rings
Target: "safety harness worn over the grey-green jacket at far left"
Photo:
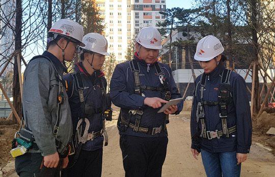
[[[36,58],[41,58],[41,57],[48,60],[52,64],[54,70],[56,71],[55,74],[56,74],[56,78],[58,80],[59,91],[58,91],[58,103],[57,103],[57,120],[56,120],[56,123],[54,124],[52,135],[56,139],[57,149],[61,149],[61,153],[60,153],[61,157],[65,158],[68,156],[68,154],[70,152],[70,146],[68,144],[63,144],[61,142],[61,140],[58,138],[58,132],[59,132],[59,128],[60,128],[60,119],[61,119],[61,106],[63,105],[63,103],[65,101],[64,90],[63,90],[64,81],[62,79],[62,76],[58,73],[56,67],[54,67],[50,58],[48,58],[47,56],[37,55],[37,56],[33,57],[31,61],[35,60]],[[38,150],[39,148],[38,148],[38,145],[36,144],[33,132],[30,129],[28,129],[28,127],[22,128],[23,120],[24,119],[22,116],[21,127],[20,127],[19,132],[17,132],[19,135],[19,138],[27,143],[32,144],[29,147],[29,149]],[[15,140],[17,140],[17,139],[15,138]],[[17,140],[17,142],[20,144],[21,141],[19,142],[19,140]],[[13,142],[13,144],[16,144],[16,143]]]

